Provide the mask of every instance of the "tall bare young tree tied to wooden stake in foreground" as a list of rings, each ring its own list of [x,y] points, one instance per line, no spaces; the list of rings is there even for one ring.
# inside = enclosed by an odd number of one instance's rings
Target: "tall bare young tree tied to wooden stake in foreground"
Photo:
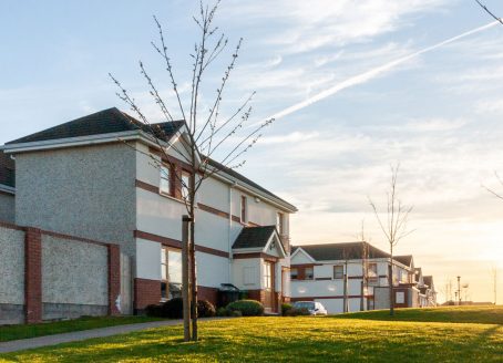
[[[137,153],[145,154],[157,167],[161,173],[170,174],[168,177],[181,186],[182,198],[186,207],[189,231],[187,234],[188,256],[183,256],[189,271],[183,271],[185,277],[189,276],[189,283],[184,283],[184,332],[185,340],[197,340],[197,279],[196,279],[196,260],[195,260],[195,210],[196,196],[205,179],[220,170],[238,168],[245,164],[244,154],[247,153],[260,138],[261,131],[273,123],[274,118],[266,120],[260,124],[248,125],[252,106],[250,102],[255,92],[244,97],[243,102],[234,112],[225,115],[223,112],[223,96],[226,90],[230,74],[233,73],[239,54],[243,39],[230,51],[230,60],[219,79],[216,93],[209,106],[205,108],[202,105],[203,81],[215,60],[225,54],[228,49],[228,39],[218,27],[214,25],[215,15],[219,6],[217,0],[213,6],[199,3],[197,15],[193,17],[198,30],[198,40],[194,44],[191,56],[191,80],[189,92],[182,92],[176,81],[172,59],[168,54],[168,48],[163,30],[157,18],[154,17],[155,25],[158,32],[158,40],[152,42],[155,53],[160,56],[163,68],[167,72],[170,89],[174,95],[174,102],[171,104],[161,95],[161,91],[154,80],[151,77],[143,62],[140,61],[140,73],[144,77],[148,94],[158,106],[165,123],[156,124],[151,122],[150,117],[141,110],[138,103],[129,91],[110,74],[113,82],[119,87],[117,96],[138,116],[142,129],[148,131],[148,137],[161,153],[161,160],[151,153],[142,152],[135,146]],[[206,96],[205,100],[208,100]],[[212,100],[212,98],[211,98]],[[182,121],[176,122],[176,117]],[[135,121],[132,121],[135,123]],[[175,135],[168,125],[182,123],[184,127],[175,127]],[[246,127],[245,127],[246,126]],[[176,139],[176,142],[172,142]],[[224,155],[219,162],[215,162],[216,152]],[[189,166],[189,176],[184,176],[175,163],[173,155],[182,159],[185,165]],[[170,167],[170,172],[164,168]],[[163,172],[164,170],[164,172]],[[185,224],[184,224],[185,225]],[[188,278],[187,278],[188,279]],[[188,314],[188,309],[191,309]],[[189,315],[192,317],[192,334],[188,324]]]

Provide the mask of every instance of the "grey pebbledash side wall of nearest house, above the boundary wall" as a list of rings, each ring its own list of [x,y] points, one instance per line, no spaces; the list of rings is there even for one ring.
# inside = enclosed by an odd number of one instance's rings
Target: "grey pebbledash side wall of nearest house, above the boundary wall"
[[[135,157],[122,143],[16,155],[16,222],[134,256]]]

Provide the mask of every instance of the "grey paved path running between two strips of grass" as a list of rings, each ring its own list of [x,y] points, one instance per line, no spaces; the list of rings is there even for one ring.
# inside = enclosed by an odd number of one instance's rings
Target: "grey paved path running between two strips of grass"
[[[208,320],[219,320],[219,319],[225,319],[225,318],[206,318],[206,319],[199,319],[199,320],[208,321]],[[21,339],[21,340],[0,343],[0,353],[9,353],[9,352],[16,352],[16,351],[21,351],[21,350],[25,350],[25,349],[34,349],[34,348],[55,345],[55,344],[61,344],[61,343],[76,342],[76,341],[82,341],[82,340],[86,340],[86,339],[91,339],[91,338],[111,336],[111,335],[116,335],[116,334],[135,332],[138,330],[144,330],[144,329],[150,329],[150,328],[170,326],[170,325],[177,325],[177,324],[182,324],[182,320],[151,321],[147,323],[115,325],[115,326],[107,326],[107,328],[100,328],[100,329],[92,329],[92,330],[82,330],[82,331],[78,331],[78,332],[54,334],[54,335]]]

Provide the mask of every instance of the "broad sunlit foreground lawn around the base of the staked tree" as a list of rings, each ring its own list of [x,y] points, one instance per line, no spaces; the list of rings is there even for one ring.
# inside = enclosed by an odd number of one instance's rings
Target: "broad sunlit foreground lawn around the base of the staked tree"
[[[238,318],[201,323],[201,341],[184,343],[181,326],[0,355],[7,362],[502,362],[503,324],[437,322],[465,309],[424,310],[433,322],[347,318]],[[492,317],[483,309],[483,314]],[[469,310],[469,315],[480,315]],[[403,313],[402,313],[403,312]],[[501,322],[501,309],[496,321]],[[406,311],[400,311],[401,318]],[[418,319],[423,318],[415,310]],[[361,318],[370,318],[365,320]],[[348,315],[349,317],[349,315]],[[441,318],[439,318],[441,317]],[[468,319],[465,317],[465,319]]]

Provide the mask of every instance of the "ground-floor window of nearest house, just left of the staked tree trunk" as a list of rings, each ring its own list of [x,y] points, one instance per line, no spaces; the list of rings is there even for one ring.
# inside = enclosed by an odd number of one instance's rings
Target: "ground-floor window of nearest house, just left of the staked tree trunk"
[[[161,250],[161,298],[182,295],[182,252],[163,247]]]

